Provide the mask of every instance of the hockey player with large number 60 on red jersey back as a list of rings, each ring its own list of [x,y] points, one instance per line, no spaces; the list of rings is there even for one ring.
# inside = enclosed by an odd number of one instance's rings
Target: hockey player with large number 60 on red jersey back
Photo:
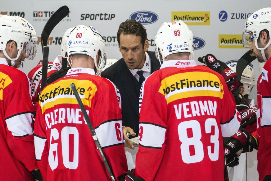
[[[39,96],[35,151],[47,180],[111,180],[70,84],[75,83],[115,178],[128,170],[117,87],[96,76],[104,67],[105,43],[92,27],[76,27],[67,40],[72,68]],[[96,71],[97,70],[97,71]]]

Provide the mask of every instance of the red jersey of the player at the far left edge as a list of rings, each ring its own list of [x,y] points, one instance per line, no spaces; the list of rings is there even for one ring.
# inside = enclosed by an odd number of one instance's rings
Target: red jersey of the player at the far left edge
[[[33,180],[35,160],[29,79],[0,58],[1,180]]]

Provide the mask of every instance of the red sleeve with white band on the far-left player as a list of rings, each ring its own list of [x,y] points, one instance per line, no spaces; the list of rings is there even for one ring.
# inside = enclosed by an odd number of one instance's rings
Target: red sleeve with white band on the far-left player
[[[10,81],[3,89],[7,144],[16,158],[32,171],[38,166],[34,156],[29,79],[16,69],[10,77],[6,77],[6,81]]]

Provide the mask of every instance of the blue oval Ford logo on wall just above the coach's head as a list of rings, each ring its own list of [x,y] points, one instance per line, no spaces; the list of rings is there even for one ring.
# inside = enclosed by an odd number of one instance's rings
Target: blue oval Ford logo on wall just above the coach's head
[[[130,19],[134,19],[142,25],[147,25],[156,22],[158,15],[150,11],[138,11],[131,14]]]

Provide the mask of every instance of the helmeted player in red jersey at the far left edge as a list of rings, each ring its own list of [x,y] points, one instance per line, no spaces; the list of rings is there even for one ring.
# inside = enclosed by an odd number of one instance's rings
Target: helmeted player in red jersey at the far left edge
[[[16,16],[0,16],[1,180],[33,181],[35,160],[29,80],[14,68],[32,48],[28,24]],[[17,63],[19,63],[18,61]],[[40,178],[37,178],[40,179]]]

